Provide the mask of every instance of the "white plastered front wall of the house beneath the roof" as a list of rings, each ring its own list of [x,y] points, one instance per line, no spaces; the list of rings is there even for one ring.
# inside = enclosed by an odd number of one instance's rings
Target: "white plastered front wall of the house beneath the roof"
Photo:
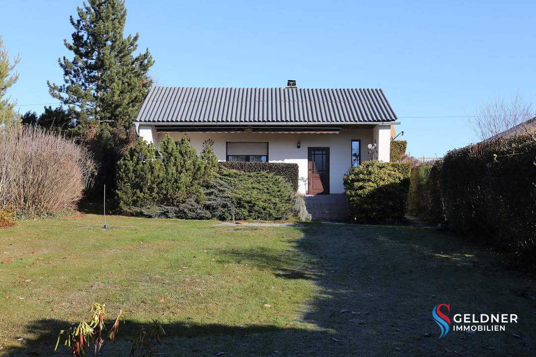
[[[148,143],[154,143],[160,149],[160,141],[166,135],[158,132],[152,125],[138,126],[138,134]],[[170,132],[174,140],[183,135],[190,138],[193,147],[198,153],[203,150],[203,142],[211,139],[213,148],[219,161],[226,160],[227,142],[267,142],[268,161],[296,163],[299,167],[299,192],[307,193],[308,187],[308,147],[328,147],[330,154],[330,194],[344,193],[343,175],[348,171],[352,159],[352,140],[360,140],[361,162],[372,157],[367,146],[377,144],[377,158],[379,161],[389,162],[391,126],[374,125],[366,128],[343,129],[338,134],[309,134],[309,133],[196,133],[196,132]],[[297,143],[300,142],[300,148]]]

